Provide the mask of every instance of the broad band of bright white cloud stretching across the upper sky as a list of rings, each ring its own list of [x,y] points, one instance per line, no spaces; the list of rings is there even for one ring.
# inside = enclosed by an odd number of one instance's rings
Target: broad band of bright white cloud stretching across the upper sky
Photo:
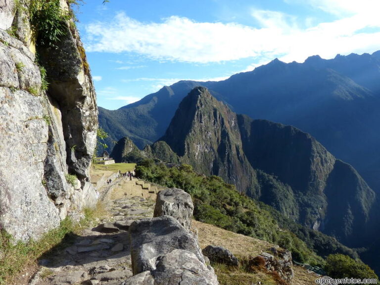
[[[294,16],[256,9],[251,15],[260,28],[254,28],[236,23],[199,23],[178,16],[159,23],[143,23],[119,13],[112,22],[86,27],[87,50],[133,52],[155,60],[207,63],[248,57],[302,62],[312,54],[332,58],[337,53],[379,49],[380,0],[362,0],[360,4],[357,0],[307,0],[307,3],[330,13],[343,11],[345,15],[314,25],[316,22],[307,18],[300,25]],[[307,28],[301,28],[305,25]],[[366,28],[375,29],[369,32]]]

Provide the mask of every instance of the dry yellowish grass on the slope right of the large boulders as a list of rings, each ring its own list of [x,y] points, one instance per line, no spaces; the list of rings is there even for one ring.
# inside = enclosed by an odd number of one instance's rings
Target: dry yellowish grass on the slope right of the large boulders
[[[213,225],[204,224],[192,220],[192,228],[198,231],[198,240],[201,248],[207,245],[217,245],[228,248],[238,259],[247,259],[249,256],[257,256],[262,251],[274,244],[257,238],[250,238],[236,233],[232,233]],[[218,276],[220,285],[251,285],[261,281],[265,285],[276,285],[272,276],[263,272],[256,274],[247,273],[243,268],[229,267],[223,264],[213,264],[215,273]],[[314,285],[315,274],[308,273],[302,267],[294,266],[294,279],[290,285]]]

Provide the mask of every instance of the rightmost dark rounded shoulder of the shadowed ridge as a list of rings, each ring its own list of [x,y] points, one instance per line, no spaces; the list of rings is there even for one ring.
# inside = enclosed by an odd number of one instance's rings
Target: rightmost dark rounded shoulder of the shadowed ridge
[[[373,238],[369,234],[377,227],[375,217],[378,215],[371,217],[370,214],[378,204],[376,194],[351,165],[335,160],[325,194],[328,207],[324,233],[351,247],[363,246]],[[342,231],[337,231],[338,228]],[[361,239],[353,241],[352,236]]]

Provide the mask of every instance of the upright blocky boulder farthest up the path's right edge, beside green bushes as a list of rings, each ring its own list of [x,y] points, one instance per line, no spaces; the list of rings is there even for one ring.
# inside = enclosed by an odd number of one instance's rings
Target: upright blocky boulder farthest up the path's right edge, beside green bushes
[[[158,192],[153,217],[172,216],[189,232],[193,210],[189,193],[178,188],[169,188]]]

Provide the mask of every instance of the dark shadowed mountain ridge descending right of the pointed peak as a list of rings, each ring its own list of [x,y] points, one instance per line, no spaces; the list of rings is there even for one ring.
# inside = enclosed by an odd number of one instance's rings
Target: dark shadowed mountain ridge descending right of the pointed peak
[[[363,245],[362,238],[368,238],[374,225],[370,213],[376,194],[351,165],[336,160],[322,144],[294,127],[242,115],[238,122],[251,165],[291,187],[301,224],[344,244]],[[293,205],[294,200],[289,201]]]

